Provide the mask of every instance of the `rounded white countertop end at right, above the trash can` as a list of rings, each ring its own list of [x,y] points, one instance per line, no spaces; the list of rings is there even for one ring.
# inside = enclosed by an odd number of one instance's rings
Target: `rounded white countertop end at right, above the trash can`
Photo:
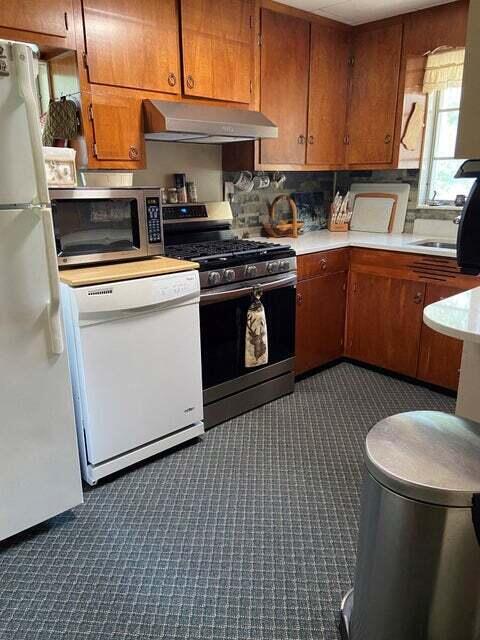
[[[480,343],[480,287],[425,307],[423,319],[434,331]]]

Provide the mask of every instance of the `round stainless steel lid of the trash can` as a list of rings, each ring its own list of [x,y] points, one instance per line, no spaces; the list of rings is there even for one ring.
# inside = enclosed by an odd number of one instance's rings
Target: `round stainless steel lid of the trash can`
[[[400,413],[370,431],[365,462],[378,482],[402,496],[471,507],[480,494],[480,424],[440,411]]]

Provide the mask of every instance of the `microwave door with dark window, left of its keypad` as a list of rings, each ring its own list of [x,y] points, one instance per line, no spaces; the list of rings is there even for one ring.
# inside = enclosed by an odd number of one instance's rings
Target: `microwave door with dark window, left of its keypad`
[[[51,191],[59,266],[142,258],[148,253],[143,191]]]

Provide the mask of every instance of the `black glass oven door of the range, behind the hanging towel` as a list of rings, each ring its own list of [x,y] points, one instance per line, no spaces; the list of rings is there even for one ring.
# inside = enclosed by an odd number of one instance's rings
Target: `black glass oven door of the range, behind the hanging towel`
[[[200,330],[202,343],[202,373],[204,396],[217,397],[222,386],[231,388],[231,382],[263,370],[254,375],[268,379],[267,370],[282,371],[280,363],[288,362],[292,368],[295,355],[295,273],[252,280],[243,285],[228,285],[206,290],[200,298]],[[255,287],[262,290],[261,302],[265,308],[268,336],[268,363],[255,368],[245,367],[245,336],[247,311],[252,303]],[[236,388],[245,385],[236,384]],[[213,390],[213,388],[215,388]],[[213,393],[208,393],[208,390]]]

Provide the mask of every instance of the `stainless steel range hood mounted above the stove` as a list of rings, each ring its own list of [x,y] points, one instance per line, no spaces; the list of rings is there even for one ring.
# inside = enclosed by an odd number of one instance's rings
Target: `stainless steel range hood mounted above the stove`
[[[277,127],[259,111],[163,100],[143,105],[146,140],[224,144],[278,137]]]

